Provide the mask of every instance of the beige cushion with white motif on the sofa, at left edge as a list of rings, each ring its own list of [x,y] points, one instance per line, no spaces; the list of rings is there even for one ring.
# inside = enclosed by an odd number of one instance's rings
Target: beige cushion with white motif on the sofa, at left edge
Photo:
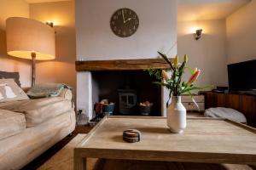
[[[0,103],[28,99],[14,79],[0,79]]]

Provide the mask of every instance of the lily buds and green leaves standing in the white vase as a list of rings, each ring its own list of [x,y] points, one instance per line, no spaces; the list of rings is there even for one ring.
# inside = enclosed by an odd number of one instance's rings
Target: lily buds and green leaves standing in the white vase
[[[156,78],[155,84],[160,86],[164,86],[170,90],[169,100],[172,96],[180,96],[181,94],[189,94],[193,97],[191,91],[203,89],[201,87],[195,87],[194,82],[196,82],[197,78],[201,74],[201,70],[195,68],[194,71],[190,71],[191,77],[187,82],[184,82],[182,77],[185,69],[187,68],[186,65],[189,60],[189,56],[187,54],[184,55],[183,63],[179,64],[179,57],[176,55],[173,62],[167,58],[166,54],[162,54],[158,52],[160,56],[166,60],[166,63],[170,65],[169,69],[149,69],[149,75],[154,76]],[[171,76],[169,76],[169,74]],[[193,99],[193,98],[192,98]],[[168,106],[169,100],[166,104]],[[193,99],[194,100],[194,99]]]

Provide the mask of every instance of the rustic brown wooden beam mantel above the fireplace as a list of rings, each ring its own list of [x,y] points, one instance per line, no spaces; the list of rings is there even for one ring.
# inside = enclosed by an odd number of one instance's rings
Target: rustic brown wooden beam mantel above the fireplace
[[[139,71],[166,69],[169,65],[164,59],[115,59],[76,61],[76,71]]]

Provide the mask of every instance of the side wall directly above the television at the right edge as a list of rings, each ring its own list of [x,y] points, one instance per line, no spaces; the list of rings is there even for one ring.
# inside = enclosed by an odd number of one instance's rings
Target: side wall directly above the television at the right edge
[[[256,1],[227,18],[228,63],[256,59]]]

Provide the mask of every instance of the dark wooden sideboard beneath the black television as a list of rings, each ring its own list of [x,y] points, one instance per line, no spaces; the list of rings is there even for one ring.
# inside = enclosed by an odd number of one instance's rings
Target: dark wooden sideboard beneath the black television
[[[249,94],[222,94],[201,92],[205,96],[205,108],[228,107],[241,111],[247,117],[247,124],[256,127],[256,96]]]

